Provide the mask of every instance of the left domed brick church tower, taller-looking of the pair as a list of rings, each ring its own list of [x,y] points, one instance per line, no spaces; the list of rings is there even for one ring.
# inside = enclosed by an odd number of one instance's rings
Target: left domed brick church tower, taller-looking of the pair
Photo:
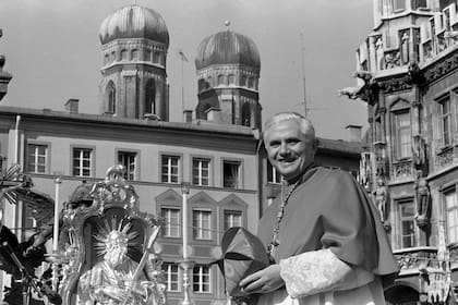
[[[150,9],[128,5],[105,19],[99,36],[100,113],[168,121],[169,33],[164,19]]]

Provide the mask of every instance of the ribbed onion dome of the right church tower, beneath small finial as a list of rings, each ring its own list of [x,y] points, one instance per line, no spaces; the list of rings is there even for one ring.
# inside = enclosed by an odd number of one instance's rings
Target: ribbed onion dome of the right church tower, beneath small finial
[[[196,69],[213,64],[261,68],[260,52],[251,38],[231,30],[219,32],[205,38],[197,48]]]

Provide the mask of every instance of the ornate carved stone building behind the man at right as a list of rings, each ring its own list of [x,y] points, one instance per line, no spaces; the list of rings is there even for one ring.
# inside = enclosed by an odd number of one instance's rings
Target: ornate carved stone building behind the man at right
[[[357,50],[370,154],[361,181],[401,271],[389,304],[455,304],[458,277],[458,14],[455,0],[374,0]],[[444,304],[444,303],[441,303]]]

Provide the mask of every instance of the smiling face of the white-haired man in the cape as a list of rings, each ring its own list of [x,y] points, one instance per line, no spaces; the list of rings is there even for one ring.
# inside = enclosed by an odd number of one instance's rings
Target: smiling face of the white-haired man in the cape
[[[313,162],[316,152],[315,138],[301,133],[299,123],[293,120],[270,126],[265,146],[270,163],[287,181],[299,176]]]

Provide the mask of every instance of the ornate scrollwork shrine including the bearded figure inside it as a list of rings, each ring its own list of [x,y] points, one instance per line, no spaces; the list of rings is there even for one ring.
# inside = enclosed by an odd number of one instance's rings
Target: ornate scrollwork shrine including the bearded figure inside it
[[[91,187],[92,205],[70,207],[64,212],[69,229],[61,231],[68,242],[60,251],[59,283],[63,305],[75,305],[75,300],[114,305],[166,304],[160,247],[154,246],[161,220],[138,210],[138,196],[123,179],[124,170],[123,166],[109,168],[106,179]],[[114,274],[110,266],[122,266],[123,276]],[[100,280],[110,284],[104,295],[105,283],[97,280],[100,272],[116,279]],[[111,292],[119,297],[112,298]]]

